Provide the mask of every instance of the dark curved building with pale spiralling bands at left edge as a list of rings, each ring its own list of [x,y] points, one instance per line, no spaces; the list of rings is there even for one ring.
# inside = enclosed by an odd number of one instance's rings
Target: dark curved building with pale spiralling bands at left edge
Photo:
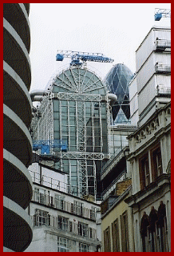
[[[32,159],[28,128],[30,5],[3,4],[3,245],[4,251],[22,252],[30,245],[33,227],[26,207],[32,198],[27,167]]]

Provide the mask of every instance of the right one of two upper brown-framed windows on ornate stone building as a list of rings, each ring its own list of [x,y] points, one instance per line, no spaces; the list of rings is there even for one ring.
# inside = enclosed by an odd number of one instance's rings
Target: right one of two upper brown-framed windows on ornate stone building
[[[152,150],[151,155],[152,155],[152,181],[155,181],[156,177],[159,177],[163,173],[160,146]]]

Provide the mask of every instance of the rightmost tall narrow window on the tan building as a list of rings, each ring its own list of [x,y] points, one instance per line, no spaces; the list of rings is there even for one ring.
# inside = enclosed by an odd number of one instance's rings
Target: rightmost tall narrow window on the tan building
[[[129,252],[129,233],[128,233],[128,212],[121,215],[121,244],[122,252]]]

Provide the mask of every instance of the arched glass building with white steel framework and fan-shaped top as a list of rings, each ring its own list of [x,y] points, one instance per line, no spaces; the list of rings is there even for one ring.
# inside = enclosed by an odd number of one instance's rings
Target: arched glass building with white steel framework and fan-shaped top
[[[66,141],[66,152],[50,148],[59,160],[55,169],[68,175],[69,190],[76,188],[75,195],[96,198],[97,173],[109,155],[109,87],[87,67],[69,67],[48,88],[34,113],[33,140]]]

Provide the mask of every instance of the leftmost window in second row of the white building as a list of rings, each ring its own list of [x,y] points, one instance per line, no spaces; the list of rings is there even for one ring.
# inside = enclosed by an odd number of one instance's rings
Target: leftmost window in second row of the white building
[[[36,209],[34,226],[50,226],[50,215],[41,209]]]

